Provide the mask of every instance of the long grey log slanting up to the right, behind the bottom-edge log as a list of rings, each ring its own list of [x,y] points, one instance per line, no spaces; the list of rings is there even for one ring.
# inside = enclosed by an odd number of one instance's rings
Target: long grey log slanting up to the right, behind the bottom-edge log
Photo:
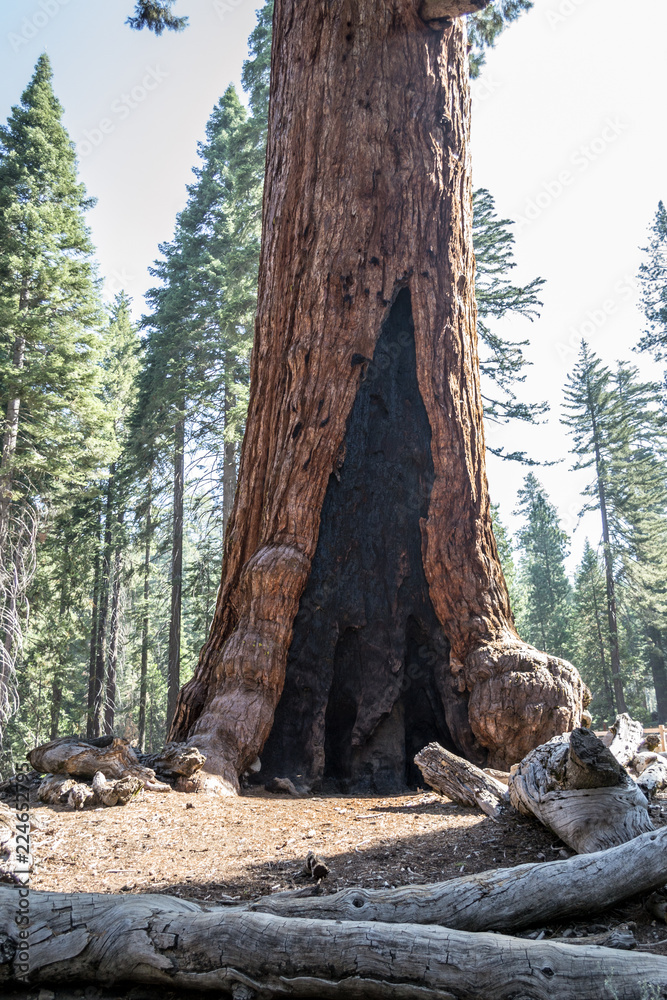
[[[264,896],[250,910],[275,916],[521,930],[591,914],[667,883],[667,827],[608,851],[499,868],[436,885],[343,889],[330,896]]]

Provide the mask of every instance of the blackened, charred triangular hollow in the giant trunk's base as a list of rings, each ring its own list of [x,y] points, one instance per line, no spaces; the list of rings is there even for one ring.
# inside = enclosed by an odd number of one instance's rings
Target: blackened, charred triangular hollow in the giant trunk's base
[[[395,297],[373,360],[352,360],[361,382],[261,779],[385,793],[419,782],[413,757],[425,743],[456,749],[446,717],[449,642],[422,563],[433,458],[408,288]]]

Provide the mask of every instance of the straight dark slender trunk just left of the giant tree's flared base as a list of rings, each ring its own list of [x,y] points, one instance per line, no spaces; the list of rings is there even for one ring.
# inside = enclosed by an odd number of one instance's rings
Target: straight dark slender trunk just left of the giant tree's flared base
[[[185,480],[185,406],[174,427],[174,515],[171,547],[171,617],[167,670],[167,732],[181,684],[181,603],[183,595],[183,488]]]

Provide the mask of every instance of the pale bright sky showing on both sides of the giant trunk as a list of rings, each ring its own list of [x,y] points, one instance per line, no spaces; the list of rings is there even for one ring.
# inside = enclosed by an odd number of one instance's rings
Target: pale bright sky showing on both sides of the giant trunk
[[[180,0],[183,34],[156,38],[124,24],[133,0],[3,0],[0,115],[47,51],[90,213],[107,294],[124,288],[139,315],[147,268],[184,206],[211,109],[240,86],[257,0]],[[515,276],[547,279],[539,320],[506,332],[530,340],[529,399],[546,399],[540,427],[487,427],[494,446],[558,464],[536,469],[574,531],[571,568],[593,515],[577,527],[585,473],[570,471],[562,387],[585,336],[606,362],[632,361],[642,332],[636,275],[658,201],[667,198],[667,5],[643,0],[536,0],[491,52],[474,84],[473,182],[516,220]],[[492,497],[512,530],[526,470],[489,462]],[[576,529],[576,530],[575,530]]]

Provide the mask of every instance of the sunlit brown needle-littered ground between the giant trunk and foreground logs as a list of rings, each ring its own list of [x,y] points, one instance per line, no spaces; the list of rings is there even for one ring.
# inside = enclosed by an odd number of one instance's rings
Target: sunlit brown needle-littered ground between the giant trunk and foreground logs
[[[667,796],[658,797],[656,826],[667,825]],[[240,900],[310,884],[309,851],[330,867],[325,892],[380,888],[456,878],[462,873],[569,857],[548,830],[517,814],[494,822],[433,793],[395,796],[313,796],[263,790],[239,798],[143,792],[124,808],[33,808],[33,890],[157,892],[215,902]],[[523,932],[585,936],[628,925],[638,947],[667,955],[667,925],[641,899],[587,920]],[[33,988],[7,1000],[144,1000],[150,990]],[[179,994],[179,1000],[182,995]],[[168,993],[160,991],[160,1000]]]

